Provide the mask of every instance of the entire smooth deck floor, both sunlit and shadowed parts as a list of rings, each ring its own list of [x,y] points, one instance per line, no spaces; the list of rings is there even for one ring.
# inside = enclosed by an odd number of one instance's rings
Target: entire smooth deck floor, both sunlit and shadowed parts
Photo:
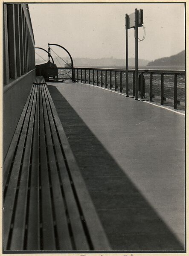
[[[183,250],[185,116],[92,85],[47,84],[113,250]]]

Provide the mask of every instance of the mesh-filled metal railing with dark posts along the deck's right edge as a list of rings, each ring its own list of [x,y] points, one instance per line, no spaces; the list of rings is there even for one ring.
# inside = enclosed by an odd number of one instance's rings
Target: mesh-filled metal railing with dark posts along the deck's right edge
[[[126,96],[135,97],[135,70],[128,72],[126,84],[125,69],[75,67],[77,82],[93,84],[110,90],[118,90]],[[159,102],[161,105],[185,103],[185,71],[183,70],[139,70],[145,78],[145,99]],[[142,80],[141,80],[142,83]],[[142,92],[141,92],[142,96]],[[143,98],[143,97],[141,97]]]

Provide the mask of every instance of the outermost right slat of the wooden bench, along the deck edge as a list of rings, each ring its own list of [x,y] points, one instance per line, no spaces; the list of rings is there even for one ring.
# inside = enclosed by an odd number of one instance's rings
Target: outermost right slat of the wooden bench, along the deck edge
[[[92,199],[90,198],[87,187],[81,176],[81,172],[79,171],[79,167],[76,164],[75,157],[73,156],[72,150],[67,141],[66,134],[64,133],[63,127],[61,125],[57,111],[55,109],[55,105],[50,96],[49,90],[47,90],[47,95],[49,96],[49,103],[51,105],[55,123],[58,128],[61,144],[64,148],[64,153],[66,155],[67,163],[70,169],[70,175],[73,179],[73,184],[77,192],[77,196],[82,209],[84,220],[87,225],[88,232],[90,234],[90,239],[93,244],[93,249],[94,250],[111,250],[109,241],[105,236],[105,231],[96,213],[96,209],[92,203]]]

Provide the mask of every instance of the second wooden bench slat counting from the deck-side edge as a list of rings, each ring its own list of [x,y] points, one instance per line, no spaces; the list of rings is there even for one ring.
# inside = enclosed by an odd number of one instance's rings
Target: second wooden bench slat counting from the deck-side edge
[[[44,86],[45,93],[46,93],[46,98],[47,98],[47,87]],[[73,190],[70,184],[70,179],[67,174],[67,168],[65,166],[64,162],[64,157],[61,152],[61,147],[60,143],[58,140],[57,136],[57,131],[55,128],[55,123],[52,118],[52,113],[51,113],[51,108],[49,106],[49,100],[47,100],[47,110],[48,110],[48,115],[49,115],[49,121],[50,125],[52,127],[52,136],[55,144],[55,151],[56,151],[56,156],[58,160],[58,166],[60,169],[60,176],[61,176],[61,182],[63,184],[63,189],[65,191],[65,200],[67,203],[67,209],[69,213],[69,218],[70,218],[70,224],[73,230],[73,236],[74,236],[74,241],[76,244],[76,250],[89,250],[87,239],[84,233],[83,226],[81,224],[81,216],[79,214],[79,210],[76,204],[76,200],[73,195]]]

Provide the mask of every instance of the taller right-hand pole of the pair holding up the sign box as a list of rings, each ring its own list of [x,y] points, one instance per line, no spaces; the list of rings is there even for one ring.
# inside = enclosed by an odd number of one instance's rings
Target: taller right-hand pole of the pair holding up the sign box
[[[139,56],[138,56],[138,11],[135,9],[135,99],[138,99],[139,89]]]

